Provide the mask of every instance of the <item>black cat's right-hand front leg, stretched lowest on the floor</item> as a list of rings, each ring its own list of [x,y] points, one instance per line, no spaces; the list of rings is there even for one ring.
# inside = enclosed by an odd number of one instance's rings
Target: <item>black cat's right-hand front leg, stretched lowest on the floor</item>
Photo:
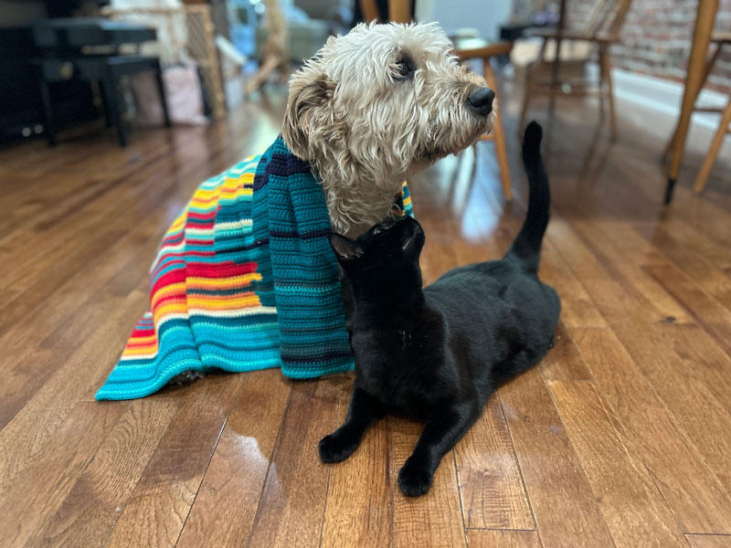
[[[478,416],[480,407],[476,402],[452,406],[429,416],[414,452],[398,472],[401,492],[407,497],[426,493],[441,458],[460,441]]]

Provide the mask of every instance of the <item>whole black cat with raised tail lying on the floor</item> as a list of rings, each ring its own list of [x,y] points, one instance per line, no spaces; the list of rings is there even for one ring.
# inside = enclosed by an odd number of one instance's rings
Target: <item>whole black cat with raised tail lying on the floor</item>
[[[502,260],[450,270],[422,289],[424,232],[411,217],[357,240],[331,236],[355,301],[355,385],[344,425],[320,442],[323,462],[349,457],[387,414],[423,420],[398,485],[424,494],[493,391],[551,348],[560,303],[536,275],[550,203],[541,136],[535,122],[525,130],[528,215]]]

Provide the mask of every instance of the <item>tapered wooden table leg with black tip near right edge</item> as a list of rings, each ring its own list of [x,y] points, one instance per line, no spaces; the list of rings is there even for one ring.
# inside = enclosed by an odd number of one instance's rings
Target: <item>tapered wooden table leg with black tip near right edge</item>
[[[711,42],[711,32],[714,28],[715,12],[718,10],[718,0],[698,0],[698,13],[695,17],[695,29],[693,33],[693,46],[688,59],[688,74],[685,77],[685,90],[683,91],[683,105],[680,112],[680,120],[675,131],[675,143],[673,146],[673,159],[668,173],[668,184],[665,189],[665,204],[673,200],[673,189],[675,179],[680,171],[680,164],[683,161],[683,150],[685,138],[688,135],[691,114],[695,97],[703,83],[705,67],[705,56],[708,52],[708,45]]]

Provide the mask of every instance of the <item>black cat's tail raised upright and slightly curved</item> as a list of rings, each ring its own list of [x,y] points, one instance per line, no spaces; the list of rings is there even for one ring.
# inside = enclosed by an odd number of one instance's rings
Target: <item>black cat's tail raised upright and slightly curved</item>
[[[525,128],[523,138],[523,164],[528,175],[528,214],[523,227],[515,238],[507,256],[514,256],[532,272],[538,271],[541,258],[541,241],[548,226],[551,192],[548,187],[546,168],[541,160],[543,130],[535,121]],[[506,257],[507,257],[506,256]]]

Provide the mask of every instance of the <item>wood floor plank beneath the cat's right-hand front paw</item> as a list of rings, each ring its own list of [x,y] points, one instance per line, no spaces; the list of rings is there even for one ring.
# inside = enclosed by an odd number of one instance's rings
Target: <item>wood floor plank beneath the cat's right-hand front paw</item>
[[[398,490],[398,470],[411,455],[423,425],[392,416],[387,421],[392,448],[389,471],[394,489],[394,546],[466,547],[453,451],[441,459],[426,495],[405,497]]]

